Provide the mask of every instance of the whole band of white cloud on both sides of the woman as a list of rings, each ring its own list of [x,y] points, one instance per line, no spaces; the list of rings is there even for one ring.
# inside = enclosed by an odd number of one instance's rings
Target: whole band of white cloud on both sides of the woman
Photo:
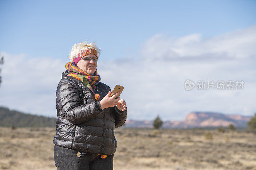
[[[252,115],[255,110],[256,26],[205,39],[157,34],[148,39],[141,58],[98,63],[101,82],[123,85],[128,119],[184,119],[190,111]],[[28,59],[2,53],[0,103],[11,109],[55,116],[55,90],[66,61]],[[184,81],[243,80],[243,90],[186,91]]]

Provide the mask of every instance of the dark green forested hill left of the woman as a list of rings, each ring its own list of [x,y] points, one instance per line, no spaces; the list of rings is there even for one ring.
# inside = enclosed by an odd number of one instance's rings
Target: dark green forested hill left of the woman
[[[56,118],[37,116],[0,107],[0,126],[55,127]]]

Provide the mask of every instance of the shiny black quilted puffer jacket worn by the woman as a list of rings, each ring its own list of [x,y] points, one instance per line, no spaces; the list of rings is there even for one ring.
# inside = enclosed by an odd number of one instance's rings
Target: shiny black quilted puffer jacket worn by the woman
[[[116,152],[117,141],[114,130],[124,124],[127,109],[115,107],[101,109],[100,100],[111,90],[99,82],[94,90],[99,100],[81,81],[62,73],[56,91],[56,135],[55,145],[94,154],[112,155]]]

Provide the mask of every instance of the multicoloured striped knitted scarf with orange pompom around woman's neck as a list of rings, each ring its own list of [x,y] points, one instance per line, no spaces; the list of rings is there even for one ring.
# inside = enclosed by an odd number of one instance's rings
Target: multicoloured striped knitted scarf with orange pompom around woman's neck
[[[92,91],[92,93],[95,95],[94,98],[96,100],[100,99],[100,95],[95,94],[93,91],[93,89],[96,89],[95,85],[100,82],[100,75],[98,74],[97,69],[95,71],[95,74],[90,74],[81,70],[79,67],[77,67],[75,62],[72,62],[72,63],[68,62],[66,64],[66,69],[74,72],[74,73],[69,73],[68,76],[75,77],[77,80],[82,81],[83,84],[86,87],[88,87]]]

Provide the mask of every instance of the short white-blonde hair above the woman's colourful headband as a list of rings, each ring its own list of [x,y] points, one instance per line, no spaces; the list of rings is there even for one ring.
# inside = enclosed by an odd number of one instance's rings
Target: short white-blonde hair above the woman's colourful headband
[[[80,53],[82,53],[82,52],[84,52],[84,51],[86,51],[86,50],[89,50],[89,51],[91,52],[91,49],[96,50],[98,57],[100,56],[101,50],[100,50],[100,48],[98,48],[98,47],[96,46],[96,43],[95,43],[95,42],[91,42],[90,44],[88,44],[88,42],[86,41],[86,42],[84,42],[84,43],[75,44],[75,45],[72,47],[72,49],[71,49],[71,51],[70,51],[70,53],[69,53],[69,55],[68,55],[68,58],[69,58],[70,61],[72,62],[73,59],[74,59],[78,54],[80,54]]]

